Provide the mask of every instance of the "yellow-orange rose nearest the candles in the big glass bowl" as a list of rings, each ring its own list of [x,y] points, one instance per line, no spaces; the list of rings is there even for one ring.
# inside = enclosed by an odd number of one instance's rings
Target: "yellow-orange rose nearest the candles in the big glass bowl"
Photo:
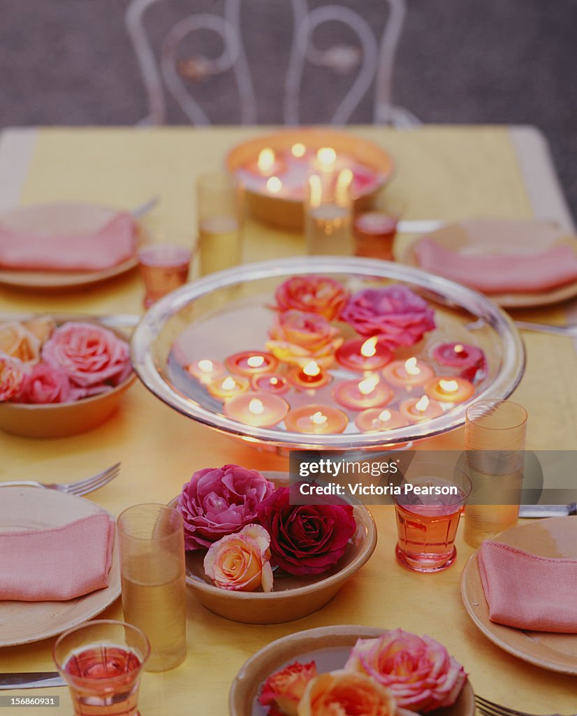
[[[285,363],[305,365],[315,360],[321,368],[334,361],[335,350],[342,344],[339,329],[323,316],[304,311],[285,311],[278,314],[270,329],[272,340],[267,350]]]

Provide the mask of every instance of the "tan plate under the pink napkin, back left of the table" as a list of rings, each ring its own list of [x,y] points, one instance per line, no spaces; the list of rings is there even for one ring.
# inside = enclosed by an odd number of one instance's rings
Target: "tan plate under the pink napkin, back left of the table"
[[[92,233],[107,224],[118,209],[89,203],[54,203],[19,206],[0,216],[0,223],[16,231]],[[136,253],[117,266],[100,271],[16,271],[0,269],[0,284],[29,289],[66,289],[95,284],[124,274],[137,265]]]

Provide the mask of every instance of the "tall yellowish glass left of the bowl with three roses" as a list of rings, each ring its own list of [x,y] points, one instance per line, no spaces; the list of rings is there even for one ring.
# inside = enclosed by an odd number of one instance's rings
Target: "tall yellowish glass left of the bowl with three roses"
[[[146,670],[172,669],[187,653],[182,515],[167,505],[134,505],[117,526],[124,619],[149,639]]]

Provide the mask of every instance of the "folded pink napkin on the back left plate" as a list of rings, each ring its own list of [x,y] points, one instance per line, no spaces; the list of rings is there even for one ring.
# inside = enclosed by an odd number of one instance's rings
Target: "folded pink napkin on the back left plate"
[[[137,228],[118,213],[94,233],[41,234],[0,225],[0,267],[25,271],[102,271],[134,256]]]

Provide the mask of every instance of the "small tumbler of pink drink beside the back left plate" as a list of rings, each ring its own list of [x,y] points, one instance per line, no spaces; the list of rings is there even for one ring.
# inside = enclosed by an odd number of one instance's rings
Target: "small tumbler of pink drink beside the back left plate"
[[[192,258],[192,239],[175,232],[147,233],[138,249],[140,275],[144,281],[144,307],[186,284]]]

